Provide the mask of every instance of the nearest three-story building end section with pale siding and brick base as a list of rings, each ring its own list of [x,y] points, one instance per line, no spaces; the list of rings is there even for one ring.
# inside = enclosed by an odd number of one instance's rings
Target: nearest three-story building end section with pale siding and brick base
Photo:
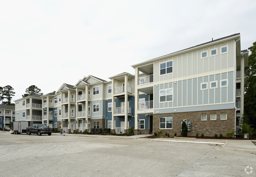
[[[179,135],[183,120],[191,136],[236,131],[248,62],[248,51],[240,48],[240,34],[234,34],[133,65],[135,131],[140,115],[149,115],[147,132]],[[141,100],[140,92],[149,99]]]

